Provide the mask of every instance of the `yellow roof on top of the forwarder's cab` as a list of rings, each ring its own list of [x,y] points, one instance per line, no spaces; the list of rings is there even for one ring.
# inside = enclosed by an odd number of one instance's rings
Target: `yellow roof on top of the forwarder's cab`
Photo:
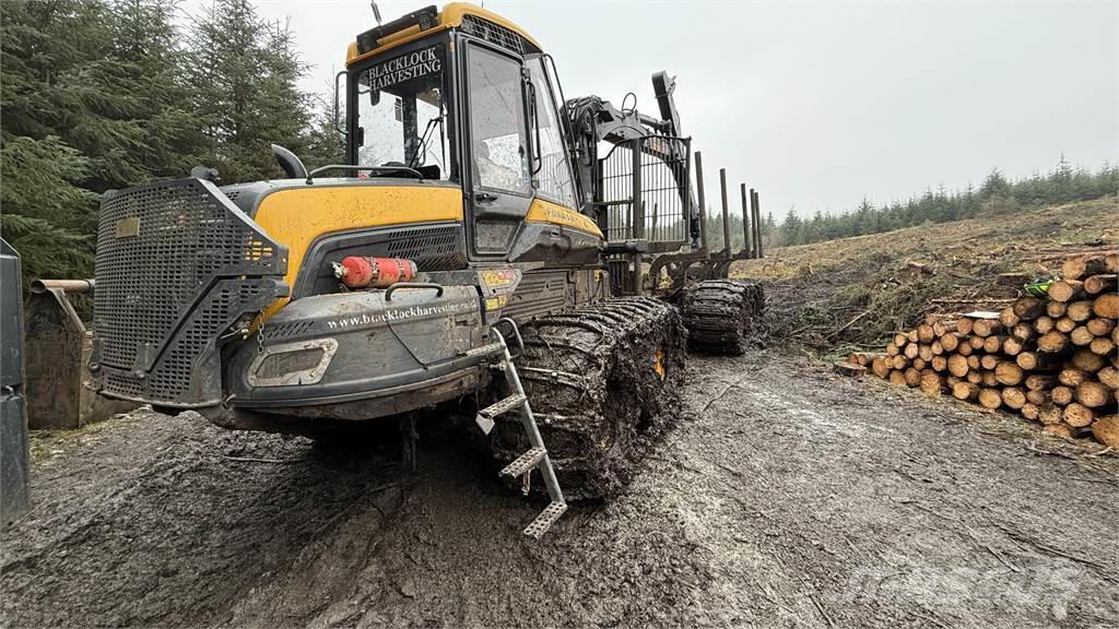
[[[431,19],[432,17],[434,17],[433,20]],[[513,31],[513,34],[524,38],[529,47],[536,48],[536,50],[542,49],[536,39],[532,35],[528,35],[525,29],[493,11],[469,2],[450,2],[443,6],[443,10],[438,13],[435,13],[434,6],[427,7],[426,9],[414,11],[403,18],[386,22],[380,27],[359,35],[357,40],[349,44],[349,49],[346,53],[346,65],[352,65],[425,35],[452,28],[461,28],[464,21],[474,24],[478,20],[481,20],[481,24],[490,22],[499,28]],[[422,28],[424,21],[431,25],[426,29]]]

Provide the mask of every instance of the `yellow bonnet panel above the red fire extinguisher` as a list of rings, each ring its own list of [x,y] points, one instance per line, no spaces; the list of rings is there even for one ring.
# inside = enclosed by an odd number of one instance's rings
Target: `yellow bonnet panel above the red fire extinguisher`
[[[316,238],[383,225],[462,220],[462,190],[426,186],[308,186],[278,190],[256,209],[256,224],[288,246],[288,285],[294,288]],[[288,302],[273,303],[265,318]]]

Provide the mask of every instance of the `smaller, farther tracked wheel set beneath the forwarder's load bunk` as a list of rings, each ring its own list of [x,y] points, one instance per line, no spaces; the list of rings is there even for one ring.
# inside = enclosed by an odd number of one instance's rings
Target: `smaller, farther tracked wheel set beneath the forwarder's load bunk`
[[[680,314],[688,345],[706,354],[739,355],[761,328],[765,297],[758,282],[707,280],[686,287]]]

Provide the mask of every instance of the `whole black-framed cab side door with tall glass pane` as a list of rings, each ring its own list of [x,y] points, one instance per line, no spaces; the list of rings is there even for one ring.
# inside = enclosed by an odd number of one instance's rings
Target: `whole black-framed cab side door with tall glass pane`
[[[519,57],[472,38],[462,43],[469,254],[505,259],[533,201],[527,75]]]

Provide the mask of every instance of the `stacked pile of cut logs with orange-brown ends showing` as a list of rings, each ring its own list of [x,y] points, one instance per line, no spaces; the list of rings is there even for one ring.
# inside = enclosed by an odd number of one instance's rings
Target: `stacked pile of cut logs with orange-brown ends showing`
[[[1119,448],[1119,253],[1071,257],[1045,297],[934,314],[882,354],[853,354],[891,383],[1003,409],[1064,436]]]

